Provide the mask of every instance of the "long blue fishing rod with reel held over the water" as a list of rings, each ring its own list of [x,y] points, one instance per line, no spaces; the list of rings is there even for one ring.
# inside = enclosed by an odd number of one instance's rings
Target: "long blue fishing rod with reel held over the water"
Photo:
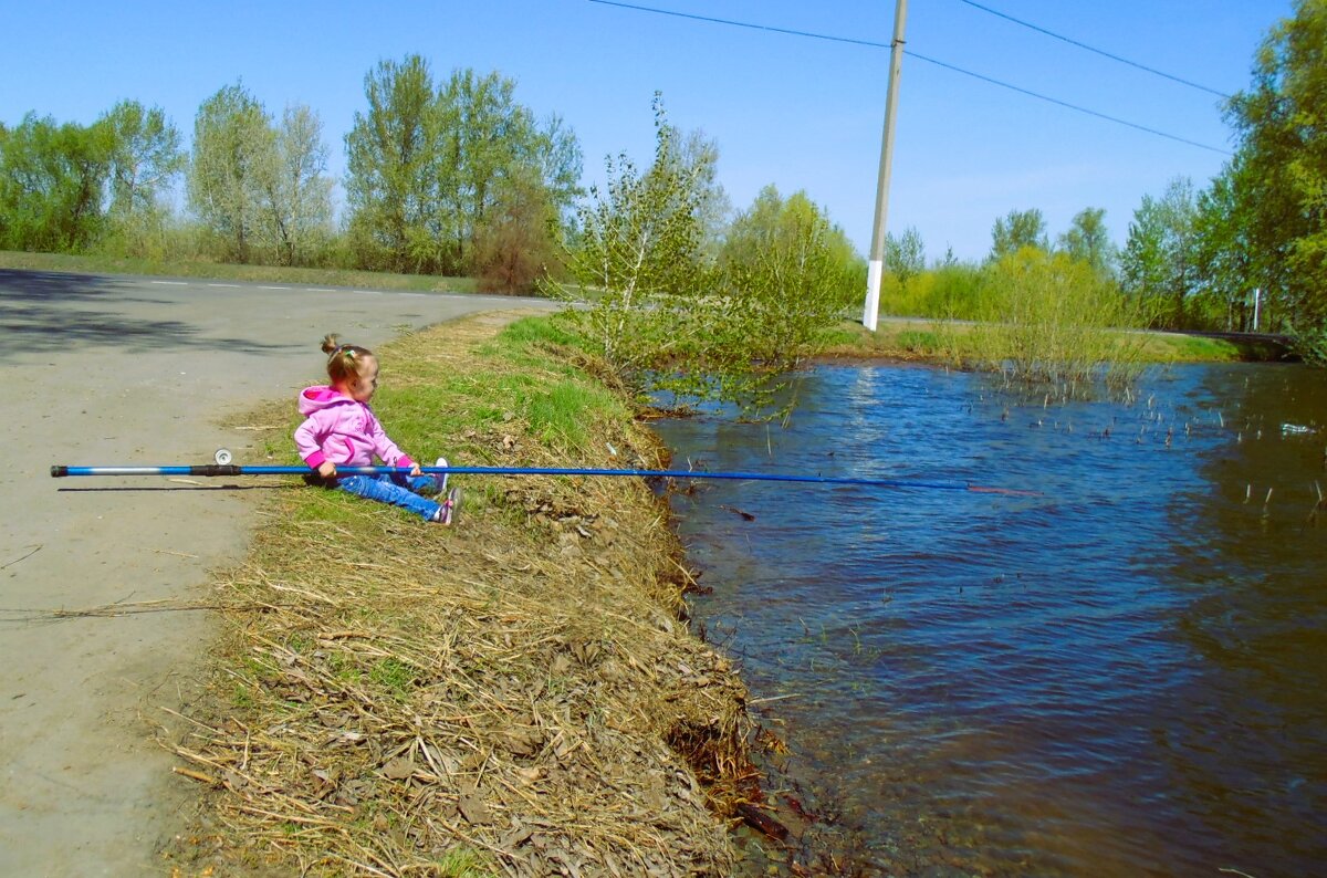
[[[202,466],[166,467],[50,467],[50,476],[285,476],[308,475],[309,467],[255,466],[231,463],[224,448],[216,452],[216,463]],[[338,476],[410,475],[409,467],[337,467]],[[974,493],[1002,493],[1019,497],[1040,496],[1039,491],[974,485],[967,481],[930,481],[921,479],[861,479],[849,476],[812,476],[779,472],[709,472],[695,470],[598,470],[587,467],[419,467],[419,472],[475,476],[638,476],[642,479],[727,479],[733,481],[795,481],[804,484],[843,484],[869,488],[902,488],[917,491],[970,491]]]

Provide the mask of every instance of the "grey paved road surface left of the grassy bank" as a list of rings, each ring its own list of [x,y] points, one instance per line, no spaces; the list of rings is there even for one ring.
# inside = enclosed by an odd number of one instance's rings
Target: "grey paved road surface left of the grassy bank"
[[[147,737],[198,679],[204,611],[50,610],[206,597],[243,553],[253,493],[54,480],[50,464],[207,463],[219,420],[322,378],[325,332],[539,300],[0,271],[0,875],[139,875],[191,781]]]

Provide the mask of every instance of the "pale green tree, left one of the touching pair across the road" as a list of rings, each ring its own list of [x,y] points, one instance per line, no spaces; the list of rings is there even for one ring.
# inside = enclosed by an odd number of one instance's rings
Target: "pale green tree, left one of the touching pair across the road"
[[[224,86],[199,106],[188,203],[227,241],[228,256],[240,263],[251,259],[261,194],[275,153],[271,119],[243,85]]]

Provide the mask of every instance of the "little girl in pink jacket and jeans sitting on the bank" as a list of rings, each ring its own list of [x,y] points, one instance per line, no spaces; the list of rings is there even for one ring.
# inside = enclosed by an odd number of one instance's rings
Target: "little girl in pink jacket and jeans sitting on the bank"
[[[447,476],[423,475],[419,464],[397,447],[378,423],[369,401],[378,389],[378,358],[368,347],[341,345],[336,336],[322,338],[328,355],[330,386],[305,387],[300,393],[300,414],[305,416],[295,431],[300,458],[317,473],[322,484],[380,503],[405,507],[425,521],[451,524],[460,505],[460,488],[453,488],[446,500]],[[373,458],[389,467],[410,467],[410,475],[337,476],[337,467],[366,467]],[[443,458],[439,467],[446,467]],[[313,476],[313,473],[309,473]]]

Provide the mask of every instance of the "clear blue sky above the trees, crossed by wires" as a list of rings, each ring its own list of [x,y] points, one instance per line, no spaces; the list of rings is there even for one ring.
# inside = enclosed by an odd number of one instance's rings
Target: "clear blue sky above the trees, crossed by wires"
[[[587,184],[604,180],[609,155],[649,163],[650,102],[661,92],[674,125],[718,143],[719,182],[735,208],[768,184],[784,196],[804,191],[867,256],[896,0],[630,1],[679,15],[594,0],[3,0],[0,122],[36,111],[88,125],[127,98],[162,107],[187,145],[199,105],[242,82],[276,118],[287,105],[313,109],[329,172],[341,179],[344,137],[366,109],[365,76],[381,60],[418,53],[438,82],[456,69],[498,72],[537,117],[560,115],[581,145]],[[1254,52],[1292,0],[981,7],[1231,94],[1249,86]],[[1176,176],[1201,188],[1233,149],[1221,97],[971,3],[912,0],[904,38],[914,54],[900,77],[886,228],[916,228],[930,260],[947,249],[985,257],[994,221],[1030,208],[1052,239],[1079,211],[1104,208],[1123,245],[1145,195],[1160,198]]]

